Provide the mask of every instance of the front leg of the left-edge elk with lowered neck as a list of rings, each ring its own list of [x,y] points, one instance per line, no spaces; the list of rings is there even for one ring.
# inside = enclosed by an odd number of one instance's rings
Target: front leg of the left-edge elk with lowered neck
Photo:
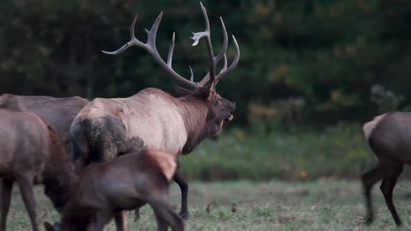
[[[34,200],[33,195],[32,174],[17,177],[17,184],[19,184],[20,193],[22,193],[24,205],[26,206],[27,213],[29,213],[31,228],[33,228],[34,231],[38,231],[36,216],[36,200]]]

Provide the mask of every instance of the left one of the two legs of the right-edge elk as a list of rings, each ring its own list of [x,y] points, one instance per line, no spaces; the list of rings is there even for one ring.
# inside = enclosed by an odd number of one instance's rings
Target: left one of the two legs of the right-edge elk
[[[382,177],[384,177],[384,171],[380,168],[380,164],[362,175],[362,184],[367,208],[366,223],[368,224],[372,223],[374,219],[371,189],[376,182],[382,179]]]

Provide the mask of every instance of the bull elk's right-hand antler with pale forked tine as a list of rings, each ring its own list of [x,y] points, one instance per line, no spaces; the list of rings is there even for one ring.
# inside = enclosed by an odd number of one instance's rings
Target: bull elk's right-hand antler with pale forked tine
[[[193,33],[192,40],[194,40],[192,46],[195,46],[199,44],[200,38],[206,37],[206,42],[207,42],[207,48],[208,48],[208,58],[210,62],[210,67],[209,67],[209,72],[204,77],[200,82],[200,86],[205,86],[206,83],[211,79],[210,81],[210,88],[214,88],[215,85],[220,81],[228,72],[231,72],[235,68],[235,66],[238,63],[238,60],[240,58],[240,47],[238,47],[238,42],[235,40],[235,37],[233,35],[233,41],[235,45],[235,57],[233,63],[229,67],[227,67],[227,59],[226,59],[226,51],[227,51],[227,44],[228,44],[228,36],[227,36],[227,31],[226,31],[226,26],[224,26],[223,19],[220,17],[220,20],[222,22],[222,28],[223,28],[223,35],[224,35],[224,42],[223,42],[223,47],[222,50],[219,52],[217,56],[214,56],[214,51],[212,51],[212,43],[211,43],[211,35],[210,35],[210,22],[208,21],[208,15],[206,8],[203,6],[203,3],[200,2],[201,5],[201,10],[203,11],[203,16],[204,16],[204,21],[206,22],[206,30],[198,33]],[[215,75],[215,67],[217,63],[222,59],[224,56],[224,67],[217,76]]]

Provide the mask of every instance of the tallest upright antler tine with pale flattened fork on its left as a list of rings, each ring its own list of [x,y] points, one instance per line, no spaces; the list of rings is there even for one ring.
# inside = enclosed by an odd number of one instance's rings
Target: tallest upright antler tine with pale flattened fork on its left
[[[215,57],[214,57],[214,51],[212,51],[212,43],[211,43],[211,35],[210,35],[210,21],[208,20],[208,15],[207,15],[207,10],[203,6],[203,3],[200,2],[201,5],[201,11],[203,11],[203,16],[204,16],[204,21],[206,22],[206,30],[198,33],[193,33],[193,36],[191,37],[192,40],[194,40],[192,46],[195,46],[199,44],[200,38],[206,37],[207,41],[207,48],[208,48],[208,58],[209,58],[209,63],[210,63],[210,70],[209,70],[209,78],[211,79],[212,83],[215,81]]]

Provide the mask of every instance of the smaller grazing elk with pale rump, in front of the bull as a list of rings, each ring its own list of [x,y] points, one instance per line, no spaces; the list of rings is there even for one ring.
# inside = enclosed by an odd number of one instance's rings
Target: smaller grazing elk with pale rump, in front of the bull
[[[77,191],[64,209],[61,223],[45,223],[46,231],[82,231],[94,225],[103,230],[116,214],[148,203],[158,229],[184,230],[184,222],[168,202],[169,182],[177,164],[171,154],[156,150],[125,154],[105,163],[91,164],[80,175]],[[125,218],[125,217],[124,217]],[[116,223],[125,230],[125,221]]]

